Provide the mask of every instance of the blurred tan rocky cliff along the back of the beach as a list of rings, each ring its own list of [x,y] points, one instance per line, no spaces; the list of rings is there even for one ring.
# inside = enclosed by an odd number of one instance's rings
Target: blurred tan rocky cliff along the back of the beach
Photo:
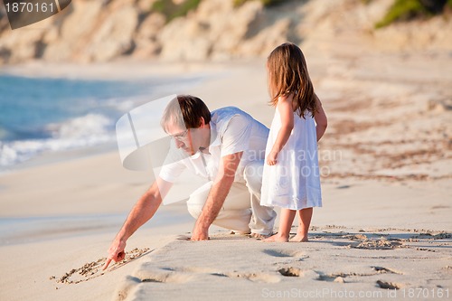
[[[452,52],[452,20],[394,24],[379,30],[392,0],[294,0],[264,7],[202,0],[167,23],[155,0],[75,0],[49,19],[11,30],[0,11],[0,63],[111,61],[123,56],[164,61],[223,61],[266,56],[281,42],[330,52],[337,42],[361,51]],[[344,48],[343,48],[344,49]]]

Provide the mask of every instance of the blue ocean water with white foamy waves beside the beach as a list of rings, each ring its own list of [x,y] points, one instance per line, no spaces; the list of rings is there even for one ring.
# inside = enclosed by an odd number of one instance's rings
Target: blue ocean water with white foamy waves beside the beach
[[[115,124],[147,101],[184,93],[203,76],[134,81],[0,74],[0,171],[43,152],[115,143]]]

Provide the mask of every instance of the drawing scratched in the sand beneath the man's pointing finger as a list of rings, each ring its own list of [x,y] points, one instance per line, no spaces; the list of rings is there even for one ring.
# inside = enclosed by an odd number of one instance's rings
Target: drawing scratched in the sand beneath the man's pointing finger
[[[132,260],[138,259],[149,252],[148,248],[145,249],[132,249],[126,253],[125,259],[118,261],[107,270],[103,271],[102,267],[106,261],[106,258],[98,259],[96,261],[87,262],[80,268],[72,268],[69,272],[61,277],[49,277],[50,280],[56,279],[57,283],[64,284],[78,284],[80,282],[88,281],[89,279],[99,277],[107,272],[115,270],[124,266]]]

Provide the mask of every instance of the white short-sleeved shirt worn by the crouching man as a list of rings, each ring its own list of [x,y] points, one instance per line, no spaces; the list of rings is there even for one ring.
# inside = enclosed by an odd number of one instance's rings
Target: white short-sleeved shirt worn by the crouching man
[[[226,107],[212,111],[209,123],[211,143],[201,152],[187,155],[171,141],[170,151],[160,171],[160,178],[174,183],[185,169],[202,178],[213,180],[218,174],[221,158],[243,152],[235,182],[244,182],[243,170],[254,161],[263,161],[268,138],[268,127],[240,108]]]

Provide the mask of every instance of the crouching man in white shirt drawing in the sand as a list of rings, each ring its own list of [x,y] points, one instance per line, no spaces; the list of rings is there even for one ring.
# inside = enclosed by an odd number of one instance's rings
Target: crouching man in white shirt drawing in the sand
[[[197,219],[191,240],[208,240],[211,224],[271,234],[276,212],[260,206],[260,186],[268,128],[239,108],[211,111],[201,99],[177,96],[165,108],[161,125],[173,137],[172,149],[155,183],[137,201],[108,249],[108,259],[124,259],[127,239],[151,219],[177,176],[185,169],[209,180],[191,194],[188,211]],[[183,153],[185,155],[183,155]]]

